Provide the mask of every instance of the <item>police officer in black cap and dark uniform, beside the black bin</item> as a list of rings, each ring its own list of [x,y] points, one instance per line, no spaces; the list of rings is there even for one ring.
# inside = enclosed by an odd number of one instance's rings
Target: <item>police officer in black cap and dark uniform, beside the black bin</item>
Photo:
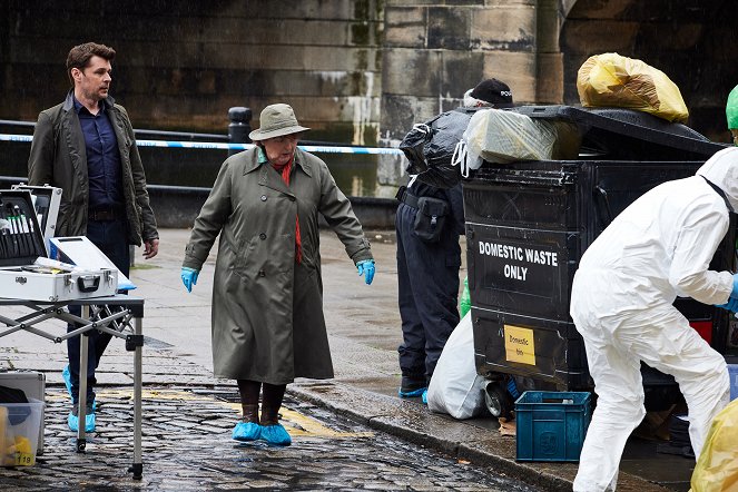
[[[440,115],[453,125],[469,124],[475,109],[512,105],[512,92],[496,79],[480,82],[464,95],[464,107]],[[459,118],[459,111],[468,118]],[[411,176],[397,193],[398,305],[403,342],[397,348],[402,381],[400,397],[422,396],[449,336],[459,324],[460,235],[464,234],[461,184],[443,189]]]

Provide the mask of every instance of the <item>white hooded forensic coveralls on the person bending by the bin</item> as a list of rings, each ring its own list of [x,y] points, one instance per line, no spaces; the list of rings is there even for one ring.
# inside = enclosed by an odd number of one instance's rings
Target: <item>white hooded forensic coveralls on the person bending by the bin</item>
[[[724,357],[672,306],[677,296],[705,304],[728,302],[732,274],[708,269],[728,230],[726,199],[738,209],[736,147],[718,151],[696,176],[646,193],[582,256],[570,314],[584,338],[599,398],[574,492],[616,489],[626,441],[646,415],[641,361],[679,383],[696,456],[710,422],[728,404]]]

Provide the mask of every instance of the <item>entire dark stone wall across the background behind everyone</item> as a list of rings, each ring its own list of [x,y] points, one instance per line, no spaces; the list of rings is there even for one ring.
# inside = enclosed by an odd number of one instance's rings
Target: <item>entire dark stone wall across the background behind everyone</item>
[[[315,140],[396,146],[496,77],[519,104],[579,104],[577,70],[617,51],[663,70],[719,141],[738,83],[729,0],[119,0],[0,2],[0,119],[35,120],[65,59],[118,51],[111,94],[138,128],[225,134],[227,110],[292,104]],[[336,156],[343,159],[344,156]],[[341,160],[338,159],[338,160]],[[0,163],[1,164],[1,163]],[[377,196],[406,177],[381,159]]]

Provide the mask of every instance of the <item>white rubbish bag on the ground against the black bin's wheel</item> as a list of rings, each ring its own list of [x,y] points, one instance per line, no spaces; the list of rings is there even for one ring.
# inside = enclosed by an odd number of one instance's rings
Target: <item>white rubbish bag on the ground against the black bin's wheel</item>
[[[485,380],[476,374],[474,332],[469,312],[446,341],[427,387],[427,407],[454,419],[470,419],[486,411]]]

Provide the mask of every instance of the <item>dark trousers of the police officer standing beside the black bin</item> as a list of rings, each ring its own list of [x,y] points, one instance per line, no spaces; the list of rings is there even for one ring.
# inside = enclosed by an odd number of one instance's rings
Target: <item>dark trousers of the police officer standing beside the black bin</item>
[[[416,208],[397,207],[397,282],[403,343],[397,348],[402,375],[430,382],[443,346],[459,324],[459,234],[446,225],[439,243],[413,232]]]

